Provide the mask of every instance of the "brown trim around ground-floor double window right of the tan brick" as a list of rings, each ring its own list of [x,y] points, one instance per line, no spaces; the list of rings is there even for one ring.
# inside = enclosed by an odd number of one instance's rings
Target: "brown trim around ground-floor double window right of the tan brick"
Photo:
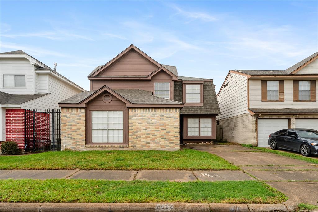
[[[199,120],[199,136],[188,136],[188,118],[211,118],[212,119],[212,135],[211,136],[200,136],[200,120]],[[216,135],[216,121],[215,115],[211,114],[193,114],[183,116],[183,139],[215,139]]]

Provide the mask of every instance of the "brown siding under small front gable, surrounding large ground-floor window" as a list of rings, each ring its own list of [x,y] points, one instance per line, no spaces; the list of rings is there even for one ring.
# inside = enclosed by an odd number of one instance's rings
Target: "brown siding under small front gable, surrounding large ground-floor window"
[[[109,103],[105,103],[102,93],[92,101],[87,103],[86,109],[86,144],[128,144],[128,109],[126,103],[113,96]],[[124,111],[124,143],[92,143],[92,110],[121,110]]]

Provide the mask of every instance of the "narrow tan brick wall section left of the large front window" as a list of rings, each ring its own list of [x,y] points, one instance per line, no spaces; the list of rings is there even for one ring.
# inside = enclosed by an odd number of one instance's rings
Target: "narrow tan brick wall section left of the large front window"
[[[85,113],[86,109],[62,108],[62,150],[64,148],[74,150],[85,149]]]

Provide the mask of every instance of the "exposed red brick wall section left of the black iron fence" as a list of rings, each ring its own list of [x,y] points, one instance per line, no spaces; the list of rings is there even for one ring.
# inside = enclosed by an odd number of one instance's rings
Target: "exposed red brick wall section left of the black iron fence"
[[[24,110],[5,110],[5,139],[15,141],[18,148],[24,148]]]

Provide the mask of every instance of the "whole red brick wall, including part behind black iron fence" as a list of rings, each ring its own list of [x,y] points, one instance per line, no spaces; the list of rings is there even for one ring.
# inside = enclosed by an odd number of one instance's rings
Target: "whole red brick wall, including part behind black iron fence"
[[[27,113],[27,137],[33,139],[33,112]],[[35,113],[35,131],[37,133],[36,147],[49,144],[50,141],[50,114]],[[17,142],[18,148],[24,148],[24,110],[23,109],[6,109],[5,110],[5,138]],[[33,142],[28,143],[28,148],[33,146]]]

